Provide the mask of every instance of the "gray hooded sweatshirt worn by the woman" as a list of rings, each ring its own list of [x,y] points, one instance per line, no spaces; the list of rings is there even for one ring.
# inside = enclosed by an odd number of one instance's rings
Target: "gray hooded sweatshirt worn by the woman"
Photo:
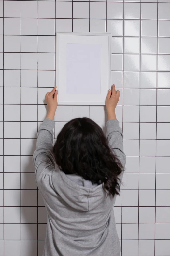
[[[102,184],[92,184],[54,168],[54,125],[51,119],[41,124],[33,154],[35,179],[47,210],[43,256],[120,256],[113,212],[116,195],[109,196]],[[124,166],[126,156],[119,121],[109,120],[106,126],[109,145]]]

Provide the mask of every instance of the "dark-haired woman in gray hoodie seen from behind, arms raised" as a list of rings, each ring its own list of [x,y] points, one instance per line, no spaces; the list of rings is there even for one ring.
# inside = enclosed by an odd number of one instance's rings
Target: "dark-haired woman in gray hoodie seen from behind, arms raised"
[[[69,121],[53,146],[56,87],[33,155],[35,179],[47,210],[43,256],[120,256],[113,212],[126,162],[116,120],[119,91],[108,91],[107,133],[89,118]],[[54,167],[56,162],[56,168]]]

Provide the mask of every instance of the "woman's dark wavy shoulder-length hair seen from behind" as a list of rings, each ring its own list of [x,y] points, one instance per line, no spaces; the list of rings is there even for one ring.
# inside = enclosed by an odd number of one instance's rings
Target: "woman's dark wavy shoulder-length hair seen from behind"
[[[108,194],[119,194],[118,175],[123,171],[100,128],[90,118],[66,123],[53,147],[55,161],[65,174],[77,174],[92,184],[103,183]]]

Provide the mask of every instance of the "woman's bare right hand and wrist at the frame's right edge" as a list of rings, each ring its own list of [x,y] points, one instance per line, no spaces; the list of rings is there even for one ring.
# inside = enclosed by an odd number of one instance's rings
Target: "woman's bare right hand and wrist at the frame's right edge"
[[[120,92],[116,91],[115,85],[113,84],[113,90],[108,90],[107,98],[106,98],[106,109],[108,114],[108,120],[116,119],[115,108],[119,101]]]

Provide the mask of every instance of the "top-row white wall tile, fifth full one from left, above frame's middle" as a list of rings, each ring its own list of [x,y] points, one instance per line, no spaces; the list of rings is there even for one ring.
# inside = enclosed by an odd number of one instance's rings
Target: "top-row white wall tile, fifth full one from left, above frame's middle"
[[[62,2],[60,2],[60,3],[62,3]],[[67,3],[69,3],[69,2],[67,2]],[[72,3],[69,3],[69,4],[72,5]],[[95,3],[93,3],[93,4],[95,4]],[[95,9],[93,11],[95,11]],[[64,9],[64,12],[65,12],[65,9]],[[65,18],[65,17],[58,17],[58,18]],[[67,18],[71,18],[71,17],[67,17]],[[74,19],[89,19],[89,3],[73,2],[73,18]],[[95,19],[97,17],[93,17],[93,18]]]

